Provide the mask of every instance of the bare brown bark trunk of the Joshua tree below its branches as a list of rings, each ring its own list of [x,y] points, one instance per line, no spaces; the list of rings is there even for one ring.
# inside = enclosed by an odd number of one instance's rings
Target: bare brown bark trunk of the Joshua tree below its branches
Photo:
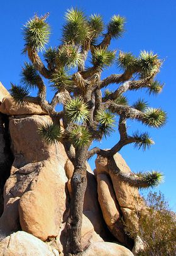
[[[87,147],[75,150],[75,168],[71,179],[72,196],[70,215],[67,221],[67,255],[81,255],[81,227],[84,194],[87,187]]]

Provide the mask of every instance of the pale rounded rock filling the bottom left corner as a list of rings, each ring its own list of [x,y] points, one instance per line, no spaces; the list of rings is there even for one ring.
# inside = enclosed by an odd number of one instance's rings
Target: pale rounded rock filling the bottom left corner
[[[23,231],[13,233],[0,241],[0,256],[59,256],[55,248]]]

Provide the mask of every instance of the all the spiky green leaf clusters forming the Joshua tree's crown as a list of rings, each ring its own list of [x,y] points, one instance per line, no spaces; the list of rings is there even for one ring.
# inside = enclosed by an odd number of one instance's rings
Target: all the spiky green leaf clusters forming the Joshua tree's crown
[[[59,102],[63,103],[62,112],[68,123],[71,124],[67,129],[67,139],[75,147],[90,145],[93,139],[100,140],[103,137],[109,136],[114,130],[116,111],[111,109],[112,113],[109,109],[101,109],[101,111],[92,114],[91,109],[92,106],[95,108],[97,104],[96,99],[87,102],[84,98],[87,88],[99,84],[101,72],[106,67],[110,67],[114,63],[118,64],[118,68],[124,70],[123,75],[128,74],[129,81],[130,79],[135,80],[134,77],[136,75],[143,80],[149,79],[149,94],[158,94],[162,91],[163,84],[153,81],[162,65],[162,61],[158,58],[157,54],[144,50],[136,57],[131,52],[120,51],[118,57],[116,57],[116,51],[109,50],[111,38],[119,38],[124,33],[124,17],[114,15],[107,26],[105,26],[99,14],[87,17],[79,9],[71,8],[65,14],[62,44],[59,47],[49,47],[46,49],[45,47],[50,36],[50,26],[47,23],[47,17],[48,14],[41,17],[35,15],[23,27],[24,51],[29,51],[28,55],[29,57],[32,56],[33,64],[25,63],[21,74],[21,81],[25,84],[25,87],[12,85],[11,95],[17,103],[22,104],[29,95],[28,88],[31,89],[31,87],[36,86],[36,82],[40,80],[40,70],[43,69],[38,52],[44,50],[43,57],[48,64],[48,76],[55,95],[60,97],[60,95],[64,95],[65,91],[67,91],[67,96],[69,94],[67,99],[65,97],[62,100],[60,99]],[[99,42],[101,37],[104,40],[98,44],[97,42]],[[91,57],[89,57],[89,53]],[[81,71],[82,60],[87,56],[92,66],[91,68],[85,67],[84,71]],[[36,68],[36,64],[40,67]],[[77,72],[73,72],[75,69],[78,69]],[[87,77],[84,76],[89,70],[89,75]],[[113,91],[105,91],[103,100],[109,99],[109,96],[113,93]],[[116,106],[124,105],[129,107],[127,97],[123,93],[117,95],[113,97],[113,103]],[[145,99],[138,99],[130,108],[134,108],[143,114],[143,120],[141,121],[145,125],[159,128],[165,124],[166,113],[162,109],[148,108],[148,103],[146,103]],[[94,116],[94,124],[89,129],[92,115]],[[47,143],[60,142],[63,136],[65,136],[60,127],[53,123],[41,126],[39,133]],[[148,133],[140,133],[139,131],[133,133],[132,136],[128,136],[128,138],[133,139],[135,147],[143,148],[143,150],[149,148],[154,143]],[[148,184],[150,182],[155,184],[157,179],[159,180],[157,174],[153,173],[152,175],[148,174],[145,177]]]

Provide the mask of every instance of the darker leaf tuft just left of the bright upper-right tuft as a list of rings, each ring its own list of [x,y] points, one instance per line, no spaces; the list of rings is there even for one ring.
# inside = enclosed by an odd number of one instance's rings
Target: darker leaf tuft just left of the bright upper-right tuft
[[[138,71],[138,58],[131,52],[119,52],[118,67],[130,72]]]

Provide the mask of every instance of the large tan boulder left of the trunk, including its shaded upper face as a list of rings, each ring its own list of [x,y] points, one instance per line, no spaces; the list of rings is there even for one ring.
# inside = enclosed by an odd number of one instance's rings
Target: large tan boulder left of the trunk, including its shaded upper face
[[[4,212],[0,230],[19,230],[45,241],[57,237],[66,209],[63,145],[46,145],[38,135],[48,116],[23,116],[9,122],[14,162],[4,187]]]

